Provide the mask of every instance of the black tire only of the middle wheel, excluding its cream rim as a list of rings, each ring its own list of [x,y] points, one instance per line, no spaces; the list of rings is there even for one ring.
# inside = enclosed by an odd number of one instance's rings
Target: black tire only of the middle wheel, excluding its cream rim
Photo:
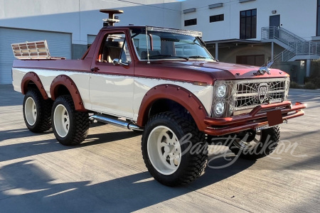
[[[69,116],[69,129],[68,133],[65,136],[60,136],[57,132],[57,127],[55,125],[55,109],[59,106],[63,105]],[[70,95],[63,95],[55,99],[52,107],[52,129],[55,134],[55,138],[65,145],[72,146],[77,145],[85,140],[87,137],[87,133],[89,130],[90,120],[89,114],[83,111],[76,111],[75,105],[73,103],[72,97]]]

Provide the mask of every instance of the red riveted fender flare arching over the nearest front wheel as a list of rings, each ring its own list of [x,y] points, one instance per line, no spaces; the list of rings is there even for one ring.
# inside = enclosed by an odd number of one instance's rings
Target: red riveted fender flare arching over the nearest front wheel
[[[159,99],[170,99],[189,111],[200,131],[206,129],[204,119],[208,116],[205,107],[201,101],[188,89],[178,87],[172,84],[161,84],[151,88],[142,99],[137,119],[138,126],[144,126],[149,117],[149,111],[152,104]]]

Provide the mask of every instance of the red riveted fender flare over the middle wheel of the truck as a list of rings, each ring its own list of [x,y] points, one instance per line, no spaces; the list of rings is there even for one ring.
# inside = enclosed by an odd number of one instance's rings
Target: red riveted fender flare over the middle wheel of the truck
[[[51,99],[55,100],[58,97],[58,88],[60,85],[63,85],[67,87],[69,90],[71,97],[73,97],[73,103],[75,104],[75,110],[77,111],[87,111],[85,107],[83,106],[83,102],[80,96],[80,92],[75,85],[75,82],[68,77],[67,75],[58,75],[55,77],[55,79],[52,81],[50,86],[50,95]]]

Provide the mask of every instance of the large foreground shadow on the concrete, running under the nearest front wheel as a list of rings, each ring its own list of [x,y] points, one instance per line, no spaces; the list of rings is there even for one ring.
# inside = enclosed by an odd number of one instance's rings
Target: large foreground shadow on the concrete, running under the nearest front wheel
[[[54,183],[55,179],[33,160],[25,160],[0,168],[0,200],[6,199],[1,208],[10,207],[12,212],[19,212],[21,207],[14,202],[23,202],[30,212],[132,212],[230,178],[253,163],[237,160],[225,169],[207,169],[191,185],[166,187],[147,172],[93,185],[90,181]],[[14,195],[19,191],[23,193]]]

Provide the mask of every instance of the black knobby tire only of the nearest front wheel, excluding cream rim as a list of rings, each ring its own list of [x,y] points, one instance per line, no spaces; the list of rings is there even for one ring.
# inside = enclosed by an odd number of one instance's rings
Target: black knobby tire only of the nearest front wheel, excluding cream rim
[[[149,135],[152,130],[159,126],[166,126],[173,131],[180,142],[181,152],[185,152],[181,157],[181,163],[178,168],[169,175],[159,173],[156,170],[151,163],[147,150],[148,143],[152,142],[151,140],[149,141]],[[181,138],[188,133],[191,133],[192,136],[188,140],[191,143],[181,144]],[[198,151],[196,151],[197,147]],[[146,168],[154,179],[168,186],[186,185],[203,174],[208,160],[208,143],[206,143],[205,134],[198,130],[194,122],[190,121],[186,116],[167,111],[152,116],[147,122],[142,135],[142,155]]]

